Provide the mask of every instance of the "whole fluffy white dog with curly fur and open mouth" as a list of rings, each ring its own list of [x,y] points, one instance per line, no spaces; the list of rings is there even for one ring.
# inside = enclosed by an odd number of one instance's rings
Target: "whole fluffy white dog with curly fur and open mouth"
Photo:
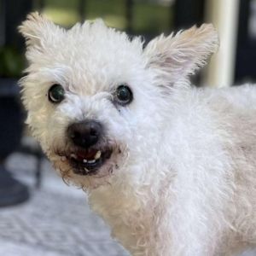
[[[34,13],[20,32],[33,135],[132,255],[255,245],[256,88],[189,83],[218,48],[211,25],[144,49],[102,20],[65,30]]]

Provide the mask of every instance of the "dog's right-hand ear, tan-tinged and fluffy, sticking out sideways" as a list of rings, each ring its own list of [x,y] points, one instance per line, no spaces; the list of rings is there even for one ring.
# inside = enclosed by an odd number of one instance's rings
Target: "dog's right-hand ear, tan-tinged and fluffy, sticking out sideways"
[[[218,33],[211,24],[154,38],[144,49],[148,67],[157,68],[169,81],[186,77],[206,64],[218,49]]]

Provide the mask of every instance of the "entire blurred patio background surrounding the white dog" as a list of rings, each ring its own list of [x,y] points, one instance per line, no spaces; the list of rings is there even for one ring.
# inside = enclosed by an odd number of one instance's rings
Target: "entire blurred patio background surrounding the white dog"
[[[101,17],[146,43],[212,22],[220,48],[193,81],[223,87],[256,81],[256,0],[0,0],[0,255],[128,255],[84,192],[55,176],[23,125],[17,81],[26,61],[17,26],[33,10],[67,28]]]

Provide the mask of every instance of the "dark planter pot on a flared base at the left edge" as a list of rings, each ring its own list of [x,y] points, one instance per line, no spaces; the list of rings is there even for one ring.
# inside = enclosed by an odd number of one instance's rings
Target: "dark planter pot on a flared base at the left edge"
[[[20,145],[23,115],[15,79],[0,79],[0,207],[26,201],[25,185],[4,168],[4,160]]]

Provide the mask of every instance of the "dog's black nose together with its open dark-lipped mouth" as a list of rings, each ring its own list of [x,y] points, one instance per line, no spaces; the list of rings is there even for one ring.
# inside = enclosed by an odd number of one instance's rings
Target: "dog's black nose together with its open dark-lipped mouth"
[[[95,120],[85,120],[68,126],[67,137],[76,149],[66,157],[73,167],[74,173],[96,174],[106,160],[111,157],[112,148],[97,147],[102,134],[103,126]]]

